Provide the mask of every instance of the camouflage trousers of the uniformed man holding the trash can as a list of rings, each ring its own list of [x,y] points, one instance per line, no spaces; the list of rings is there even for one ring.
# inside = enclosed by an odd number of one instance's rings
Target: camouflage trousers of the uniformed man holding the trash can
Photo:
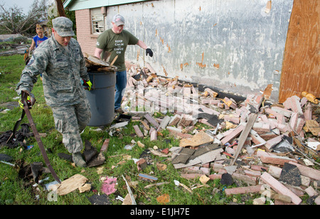
[[[70,153],[83,149],[80,133],[90,122],[91,112],[87,100],[78,105],[52,107],[55,129],[63,134],[63,144]]]

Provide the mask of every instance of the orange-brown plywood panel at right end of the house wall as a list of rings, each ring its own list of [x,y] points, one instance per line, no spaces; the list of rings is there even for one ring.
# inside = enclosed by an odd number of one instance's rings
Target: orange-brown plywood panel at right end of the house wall
[[[279,102],[303,91],[320,97],[319,0],[294,0],[279,87]]]

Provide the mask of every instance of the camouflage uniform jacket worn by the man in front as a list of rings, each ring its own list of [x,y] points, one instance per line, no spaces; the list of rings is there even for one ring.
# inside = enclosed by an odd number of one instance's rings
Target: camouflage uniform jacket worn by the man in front
[[[80,78],[90,78],[82,50],[75,39],[71,38],[68,49],[60,46],[54,36],[41,43],[22,71],[16,87],[18,95],[21,90],[31,92],[40,74],[43,75],[43,92],[48,106],[74,105],[86,98]]]

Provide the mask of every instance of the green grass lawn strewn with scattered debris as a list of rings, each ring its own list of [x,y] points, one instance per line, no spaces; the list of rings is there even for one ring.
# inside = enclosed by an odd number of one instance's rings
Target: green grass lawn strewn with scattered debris
[[[0,57],[0,103],[17,101],[14,97],[17,97],[15,87],[20,79],[21,71],[24,68],[23,55],[12,55]],[[144,203],[146,205],[158,205],[157,197],[167,193],[170,196],[169,205],[222,205],[230,202],[251,204],[253,198],[257,198],[260,195],[246,195],[246,196],[233,196],[226,197],[223,189],[225,186],[220,184],[220,180],[208,181],[208,187],[196,188],[193,193],[189,193],[181,186],[177,187],[174,184],[174,180],[185,184],[189,188],[200,185],[201,182],[198,179],[188,180],[181,178],[180,172],[174,169],[174,166],[170,161],[164,157],[153,156],[152,165],[148,165],[143,171],[138,171],[137,164],[134,164],[133,160],[127,160],[124,164],[118,164],[124,161],[121,155],[130,155],[134,159],[139,159],[142,152],[153,146],[158,146],[160,149],[170,148],[171,146],[178,146],[179,141],[169,135],[169,132],[163,131],[163,137],[158,137],[157,141],[150,141],[149,137],[141,139],[134,134],[133,125],[140,124],[140,122],[131,122],[127,127],[119,129],[117,133],[110,136],[110,126],[103,127],[102,132],[95,131],[96,127],[87,127],[85,132],[81,135],[83,142],[85,139],[89,140],[92,146],[95,146],[98,151],[105,141],[110,139],[110,144],[107,152],[104,154],[106,157],[105,164],[103,164],[102,173],[97,173],[97,167],[92,168],[78,168],[73,167],[70,161],[65,161],[58,157],[58,153],[68,154],[65,146],[62,143],[62,136],[55,130],[52,112],[50,107],[46,105],[46,101],[43,97],[43,87],[41,80],[38,80],[35,87],[33,87],[33,94],[36,97],[36,105],[33,106],[31,114],[33,120],[36,123],[36,127],[39,133],[46,133],[46,137],[42,137],[43,144],[46,148],[50,163],[58,173],[60,180],[65,180],[74,176],[75,174],[82,174],[87,177],[87,183],[92,185],[92,191],[86,193],[79,193],[79,191],[73,191],[65,196],[58,196],[57,201],[48,200],[48,191],[44,190],[44,186],[33,187],[33,180],[23,181],[18,176],[18,169],[7,164],[1,164],[0,171],[0,204],[19,204],[19,205],[90,205],[87,197],[100,193],[102,182],[100,178],[102,176],[117,177],[117,192],[111,194],[110,201],[114,205],[121,205],[122,202],[115,199],[117,196],[124,198],[128,191],[127,186],[122,179],[122,175],[128,178],[128,181],[137,181],[137,187],[133,187],[132,191],[137,195],[137,203]],[[16,120],[21,116],[21,108],[16,107],[14,110],[10,110],[6,113],[0,113],[0,132],[6,132],[12,130]],[[156,117],[161,117],[159,113]],[[21,123],[28,123],[28,119],[25,117]],[[134,141],[141,141],[145,144],[145,148],[142,149],[139,146],[134,146],[130,151],[124,149],[126,144],[131,144],[132,139]],[[170,139],[170,143],[166,143],[165,139]],[[25,161],[25,164],[32,164],[33,162],[43,162],[43,157],[38,149],[36,139],[33,137],[27,139],[27,145],[33,145],[32,149],[23,150],[21,147],[15,149],[9,149],[7,147],[0,148],[0,154],[8,154],[13,157],[11,163],[15,164],[19,161]],[[166,164],[167,168],[164,171],[159,171],[156,168],[156,163]],[[46,166],[43,162],[43,166]],[[101,166],[100,166],[101,167]],[[160,182],[169,182],[169,184],[163,186],[154,186],[151,188],[144,188],[151,182],[142,181],[139,179],[139,173],[146,173],[151,176],[156,176]],[[41,179],[49,177],[45,183],[50,183],[53,177],[50,173],[43,173]],[[231,186],[232,187],[232,186]],[[233,186],[235,187],[235,186]],[[213,194],[213,188],[218,188],[218,193]],[[244,198],[245,197],[245,198]]]

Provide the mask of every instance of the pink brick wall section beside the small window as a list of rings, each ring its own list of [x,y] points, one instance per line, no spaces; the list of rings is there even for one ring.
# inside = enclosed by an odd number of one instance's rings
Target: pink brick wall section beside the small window
[[[80,43],[82,53],[95,54],[95,43],[97,35],[91,34],[90,10],[83,9],[75,11],[75,22],[77,23],[77,39]]]

